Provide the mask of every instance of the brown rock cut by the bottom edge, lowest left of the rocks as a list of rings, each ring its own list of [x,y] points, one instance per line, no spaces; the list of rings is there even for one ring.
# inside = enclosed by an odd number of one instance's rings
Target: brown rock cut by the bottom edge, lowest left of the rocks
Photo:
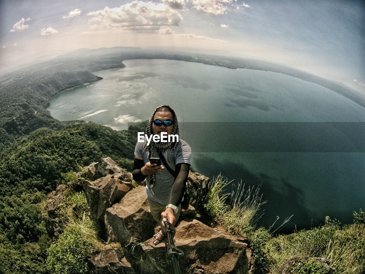
[[[131,264],[124,256],[123,247],[103,250],[93,255],[89,261],[91,273],[135,274]]]

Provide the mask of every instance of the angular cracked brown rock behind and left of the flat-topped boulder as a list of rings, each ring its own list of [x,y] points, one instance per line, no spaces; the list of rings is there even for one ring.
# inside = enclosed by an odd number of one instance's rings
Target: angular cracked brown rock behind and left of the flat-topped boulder
[[[93,182],[84,181],[83,186],[91,217],[102,226],[104,225],[105,210],[119,202],[132,187],[131,183],[125,183],[119,179],[125,179],[124,173],[108,174]]]

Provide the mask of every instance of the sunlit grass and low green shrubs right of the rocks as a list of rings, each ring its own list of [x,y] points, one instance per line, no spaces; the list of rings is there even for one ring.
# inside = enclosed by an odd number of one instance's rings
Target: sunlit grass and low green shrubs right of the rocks
[[[204,209],[207,214],[222,224],[230,233],[239,234],[250,240],[254,261],[259,273],[281,274],[326,274],[333,267],[336,274],[360,274],[365,271],[365,213],[354,212],[354,224],[345,225],[328,216],[324,225],[290,235],[277,235],[278,229],[290,220],[286,218],[278,228],[256,229],[262,216],[259,195],[256,189],[238,185],[236,191],[227,191],[226,178],[218,175],[213,179]],[[328,262],[320,262],[323,258]],[[283,272],[284,271],[284,272]]]

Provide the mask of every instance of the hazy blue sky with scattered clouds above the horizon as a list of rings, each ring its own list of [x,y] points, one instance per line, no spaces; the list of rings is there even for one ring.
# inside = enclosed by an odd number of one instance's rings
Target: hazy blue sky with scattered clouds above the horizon
[[[0,72],[112,46],[267,60],[365,94],[365,1],[0,0]]]

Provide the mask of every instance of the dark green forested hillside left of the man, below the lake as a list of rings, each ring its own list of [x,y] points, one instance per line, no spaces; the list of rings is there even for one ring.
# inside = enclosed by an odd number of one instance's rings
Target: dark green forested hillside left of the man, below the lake
[[[47,273],[51,244],[40,202],[64,179],[62,174],[110,156],[131,170],[137,131],[146,123],[115,131],[77,123],[56,131],[40,128],[19,138],[0,161],[0,273]]]

